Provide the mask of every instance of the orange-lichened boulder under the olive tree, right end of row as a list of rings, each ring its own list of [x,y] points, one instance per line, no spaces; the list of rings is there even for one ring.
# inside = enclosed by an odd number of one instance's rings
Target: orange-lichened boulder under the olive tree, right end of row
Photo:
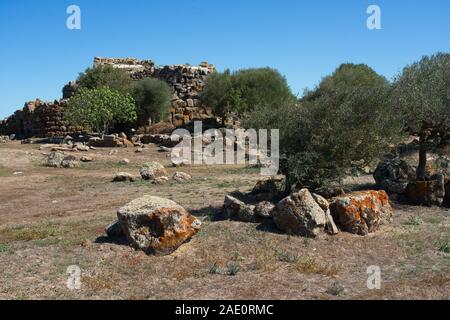
[[[385,191],[361,191],[333,199],[332,215],[342,230],[367,235],[392,221],[393,209]]]

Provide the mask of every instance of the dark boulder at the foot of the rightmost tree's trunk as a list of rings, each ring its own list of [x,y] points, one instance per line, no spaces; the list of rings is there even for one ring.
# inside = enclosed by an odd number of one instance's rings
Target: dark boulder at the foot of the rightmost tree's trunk
[[[424,206],[441,206],[445,197],[444,175],[437,174],[429,181],[410,182],[405,189],[409,203]]]

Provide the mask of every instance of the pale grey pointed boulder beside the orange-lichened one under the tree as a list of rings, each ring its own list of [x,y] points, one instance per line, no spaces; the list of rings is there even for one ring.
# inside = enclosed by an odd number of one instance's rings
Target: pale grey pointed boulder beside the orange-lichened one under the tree
[[[325,230],[327,217],[308,189],[281,200],[273,210],[277,227],[293,235],[316,237]]]

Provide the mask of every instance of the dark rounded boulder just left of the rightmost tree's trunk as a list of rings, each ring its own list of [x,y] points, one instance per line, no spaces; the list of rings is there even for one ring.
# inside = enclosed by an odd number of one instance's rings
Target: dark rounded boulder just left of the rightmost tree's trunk
[[[378,164],[373,177],[388,193],[402,194],[409,181],[416,178],[416,169],[404,160],[386,158]]]

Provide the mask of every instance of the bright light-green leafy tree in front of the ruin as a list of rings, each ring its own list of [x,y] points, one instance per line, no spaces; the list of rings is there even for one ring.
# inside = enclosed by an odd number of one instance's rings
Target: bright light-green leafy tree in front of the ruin
[[[109,88],[79,89],[64,115],[73,125],[103,134],[116,124],[132,124],[137,119],[133,97]]]

